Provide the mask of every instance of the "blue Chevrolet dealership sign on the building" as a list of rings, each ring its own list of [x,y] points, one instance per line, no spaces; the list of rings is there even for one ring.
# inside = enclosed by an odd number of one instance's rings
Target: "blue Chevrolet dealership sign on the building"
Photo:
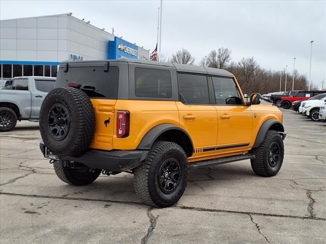
[[[119,57],[138,58],[138,46],[115,37],[114,41],[108,42],[108,59]]]

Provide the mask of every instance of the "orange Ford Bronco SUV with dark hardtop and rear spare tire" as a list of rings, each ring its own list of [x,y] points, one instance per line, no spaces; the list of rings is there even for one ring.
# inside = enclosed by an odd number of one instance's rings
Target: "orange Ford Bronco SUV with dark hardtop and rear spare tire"
[[[99,174],[134,174],[149,205],[182,196],[188,169],[251,160],[276,175],[283,162],[282,113],[244,101],[219,69],[139,59],[63,62],[40,114],[40,148],[58,177],[86,185]]]

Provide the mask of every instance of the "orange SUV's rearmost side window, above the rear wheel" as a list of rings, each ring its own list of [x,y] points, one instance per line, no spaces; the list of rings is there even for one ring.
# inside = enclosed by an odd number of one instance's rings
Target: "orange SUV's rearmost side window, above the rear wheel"
[[[135,95],[143,98],[171,98],[171,73],[168,70],[135,68]]]

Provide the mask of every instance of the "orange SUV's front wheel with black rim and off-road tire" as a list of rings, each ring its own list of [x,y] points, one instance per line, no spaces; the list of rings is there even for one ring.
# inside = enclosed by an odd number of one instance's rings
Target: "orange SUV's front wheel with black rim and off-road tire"
[[[251,150],[255,159],[251,159],[253,171],[260,176],[276,175],[283,163],[284,144],[277,131],[268,131],[261,145]]]

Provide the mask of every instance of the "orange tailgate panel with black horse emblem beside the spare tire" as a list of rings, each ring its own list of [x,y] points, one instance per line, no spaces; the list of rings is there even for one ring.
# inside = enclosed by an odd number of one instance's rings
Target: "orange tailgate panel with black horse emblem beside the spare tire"
[[[95,111],[96,127],[93,141],[94,149],[112,150],[115,134],[114,107],[117,100],[91,99]]]

